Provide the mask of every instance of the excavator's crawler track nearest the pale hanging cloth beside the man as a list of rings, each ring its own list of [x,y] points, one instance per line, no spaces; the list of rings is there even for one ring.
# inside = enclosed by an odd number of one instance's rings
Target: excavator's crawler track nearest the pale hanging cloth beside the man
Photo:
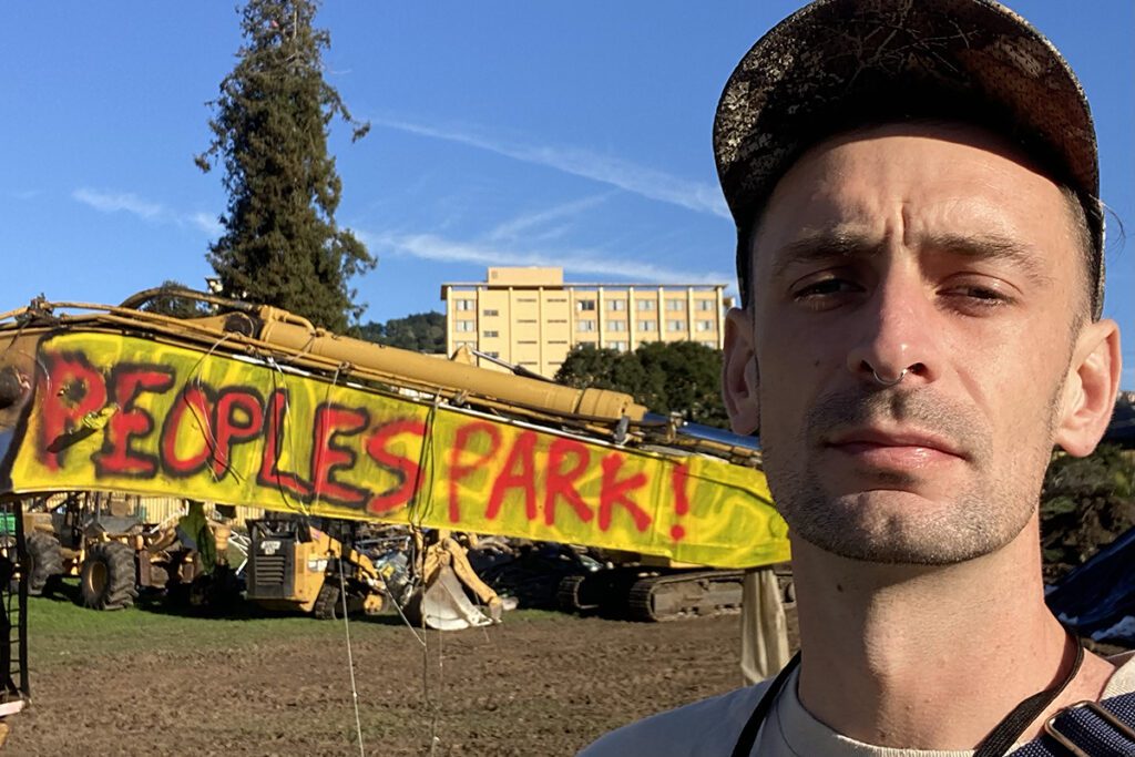
[[[641,578],[630,588],[628,616],[663,622],[740,612],[743,575],[741,571],[688,571]]]

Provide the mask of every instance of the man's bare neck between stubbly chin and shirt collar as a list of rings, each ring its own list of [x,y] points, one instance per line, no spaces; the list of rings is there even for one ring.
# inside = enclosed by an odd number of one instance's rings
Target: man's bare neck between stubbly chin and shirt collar
[[[997,553],[933,567],[850,561],[794,540],[805,708],[866,743],[972,749],[1062,680],[1074,648],[1044,605],[1036,529],[1034,519]],[[1111,670],[1087,655],[1049,712],[1099,698]]]

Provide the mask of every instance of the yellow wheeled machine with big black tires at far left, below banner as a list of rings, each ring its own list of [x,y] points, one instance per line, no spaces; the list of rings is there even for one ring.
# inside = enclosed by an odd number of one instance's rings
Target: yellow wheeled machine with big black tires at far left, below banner
[[[78,577],[84,606],[124,609],[140,590],[187,588],[203,572],[200,535],[187,533],[179,522],[145,523],[121,496],[69,491],[61,502],[41,497],[28,504],[23,520],[24,571],[33,596],[62,577]],[[228,528],[211,523],[209,529],[210,552],[224,555]]]

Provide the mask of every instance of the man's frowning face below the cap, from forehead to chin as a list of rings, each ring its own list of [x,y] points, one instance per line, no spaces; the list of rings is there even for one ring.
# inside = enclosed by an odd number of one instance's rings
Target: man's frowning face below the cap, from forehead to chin
[[[1084,308],[1065,199],[994,136],[888,126],[781,179],[754,241],[773,496],[851,558],[948,564],[1032,518]],[[897,386],[884,379],[907,375]]]

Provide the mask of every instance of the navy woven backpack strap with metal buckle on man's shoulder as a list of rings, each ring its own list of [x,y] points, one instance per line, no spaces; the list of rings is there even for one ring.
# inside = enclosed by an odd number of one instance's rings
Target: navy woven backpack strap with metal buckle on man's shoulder
[[[1044,724],[1044,735],[1011,757],[1130,757],[1135,755],[1135,692],[1065,707]]]

